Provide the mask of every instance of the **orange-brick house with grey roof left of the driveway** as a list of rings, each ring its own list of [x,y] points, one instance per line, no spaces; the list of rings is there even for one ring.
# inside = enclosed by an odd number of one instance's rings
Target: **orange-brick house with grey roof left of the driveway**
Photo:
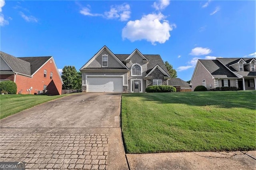
[[[63,81],[53,57],[14,57],[0,51],[0,81],[14,81],[17,93],[60,95]]]

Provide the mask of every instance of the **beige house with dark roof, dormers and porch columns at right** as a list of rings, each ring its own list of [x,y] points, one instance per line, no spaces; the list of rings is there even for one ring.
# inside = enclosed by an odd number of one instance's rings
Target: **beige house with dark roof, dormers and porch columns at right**
[[[192,91],[198,85],[208,90],[216,87],[239,87],[241,90],[256,90],[255,58],[216,58],[198,60],[190,85]]]

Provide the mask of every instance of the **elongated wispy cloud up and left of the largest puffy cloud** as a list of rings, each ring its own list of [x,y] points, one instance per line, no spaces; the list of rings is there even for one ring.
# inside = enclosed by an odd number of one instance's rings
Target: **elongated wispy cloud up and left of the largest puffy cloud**
[[[129,4],[115,5],[111,6],[109,11],[104,12],[104,14],[92,13],[90,11],[90,6],[83,7],[80,10],[80,14],[85,16],[102,16],[107,19],[120,19],[121,21],[127,21],[130,18],[131,10]]]

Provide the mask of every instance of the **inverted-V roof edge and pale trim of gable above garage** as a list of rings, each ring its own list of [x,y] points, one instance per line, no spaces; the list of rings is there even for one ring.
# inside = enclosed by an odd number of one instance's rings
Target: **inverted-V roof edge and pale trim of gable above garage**
[[[126,67],[126,65],[124,65],[124,63],[122,63],[120,59],[118,59],[118,57],[116,57],[116,55],[114,55],[114,53],[112,53],[112,51],[110,51],[110,49],[104,45],[104,47],[102,47],[100,51],[98,51],[85,65],[83,65],[80,70],[87,68],[104,50],[106,50],[122,68],[128,69],[128,67]]]

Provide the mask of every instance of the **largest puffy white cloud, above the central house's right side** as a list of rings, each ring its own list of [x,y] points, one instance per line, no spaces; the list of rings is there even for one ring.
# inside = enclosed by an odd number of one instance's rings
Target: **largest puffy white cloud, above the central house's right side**
[[[176,28],[176,25],[169,24],[164,18],[165,16],[159,13],[144,15],[140,20],[129,21],[122,30],[122,38],[127,38],[131,42],[146,40],[153,45],[156,42],[165,43],[170,38],[170,31]]]

